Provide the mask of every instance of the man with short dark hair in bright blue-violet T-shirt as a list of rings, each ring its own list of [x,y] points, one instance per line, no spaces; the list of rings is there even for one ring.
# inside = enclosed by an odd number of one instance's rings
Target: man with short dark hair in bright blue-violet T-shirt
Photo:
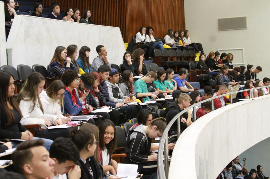
[[[178,76],[174,78],[174,80],[177,83],[177,89],[182,90],[182,92],[190,93],[194,91],[194,88],[185,80],[187,77],[187,72],[188,70],[186,68],[181,68],[178,72]],[[190,89],[187,87],[190,87]]]

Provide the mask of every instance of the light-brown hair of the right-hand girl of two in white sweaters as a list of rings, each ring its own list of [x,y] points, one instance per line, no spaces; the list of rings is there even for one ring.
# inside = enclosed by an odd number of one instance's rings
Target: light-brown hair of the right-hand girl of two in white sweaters
[[[48,97],[53,100],[53,103],[55,103],[58,99],[57,93],[61,89],[66,90],[64,83],[61,80],[55,80],[54,82],[50,84],[50,86],[47,89],[45,89],[45,91]],[[64,93],[61,94],[61,96],[59,97],[59,101],[60,101],[61,109],[64,109]],[[61,112],[63,114],[64,111],[61,110]]]

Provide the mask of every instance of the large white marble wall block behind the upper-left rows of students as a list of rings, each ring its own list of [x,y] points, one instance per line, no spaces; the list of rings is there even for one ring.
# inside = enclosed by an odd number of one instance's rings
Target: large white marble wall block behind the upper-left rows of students
[[[50,63],[57,46],[86,45],[91,51],[89,62],[98,56],[97,45],[107,49],[108,61],[121,64],[125,53],[124,41],[118,27],[89,25],[41,17],[17,15],[7,40],[8,65]],[[79,57],[79,53],[77,55]]]

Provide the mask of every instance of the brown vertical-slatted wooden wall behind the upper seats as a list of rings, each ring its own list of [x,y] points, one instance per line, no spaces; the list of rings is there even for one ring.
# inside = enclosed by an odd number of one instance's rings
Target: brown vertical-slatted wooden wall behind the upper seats
[[[184,0],[57,0],[61,11],[67,7],[90,9],[94,24],[119,27],[124,42],[130,42],[140,26],[152,26],[154,37],[164,38],[168,29],[185,30]],[[50,6],[51,0],[43,0]]]

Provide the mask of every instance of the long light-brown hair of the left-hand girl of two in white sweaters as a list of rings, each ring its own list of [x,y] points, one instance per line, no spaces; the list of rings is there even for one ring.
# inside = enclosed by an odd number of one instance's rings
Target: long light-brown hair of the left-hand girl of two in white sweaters
[[[18,94],[17,100],[19,103],[21,100],[32,101],[33,106],[31,106],[29,112],[34,110],[34,107],[37,105],[38,101],[39,108],[44,113],[38,96],[38,84],[43,80],[45,81],[45,78],[42,76],[42,74],[38,72],[31,73],[31,75],[29,75],[26,81],[23,83],[23,87]]]

